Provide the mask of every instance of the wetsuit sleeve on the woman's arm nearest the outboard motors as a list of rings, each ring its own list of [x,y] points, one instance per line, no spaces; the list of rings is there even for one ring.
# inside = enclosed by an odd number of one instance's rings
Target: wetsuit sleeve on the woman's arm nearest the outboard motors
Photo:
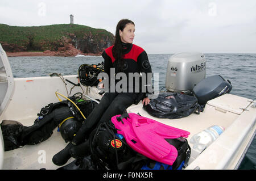
[[[143,51],[141,54],[138,56],[138,65],[142,73],[146,74],[146,93],[153,93],[151,92],[152,90],[152,69],[150,62],[148,61],[147,53]],[[150,75],[148,75],[150,73]],[[151,77],[151,79],[148,79],[148,77]],[[142,82],[143,83],[143,82]],[[148,89],[148,87],[151,87],[151,89]],[[146,97],[146,93],[144,94],[144,98]]]

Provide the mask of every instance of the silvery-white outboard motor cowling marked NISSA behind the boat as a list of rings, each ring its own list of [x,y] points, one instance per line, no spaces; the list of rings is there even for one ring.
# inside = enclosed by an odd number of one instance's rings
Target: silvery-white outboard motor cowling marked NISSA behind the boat
[[[206,61],[203,53],[177,53],[169,58],[166,89],[171,92],[191,92],[205,78]]]

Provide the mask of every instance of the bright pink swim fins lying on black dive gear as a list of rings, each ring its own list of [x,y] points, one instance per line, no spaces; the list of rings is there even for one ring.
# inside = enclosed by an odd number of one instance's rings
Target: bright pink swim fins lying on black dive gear
[[[190,134],[136,113],[129,113],[130,118],[122,119],[123,123],[117,120],[118,116],[120,115],[112,117],[112,123],[119,129],[117,132],[125,137],[131,148],[148,158],[168,165],[175,162],[177,150],[164,139],[188,137]]]

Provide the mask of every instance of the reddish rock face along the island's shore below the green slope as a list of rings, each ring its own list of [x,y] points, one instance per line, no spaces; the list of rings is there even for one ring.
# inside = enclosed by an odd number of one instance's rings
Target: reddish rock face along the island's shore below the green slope
[[[63,36],[53,42],[42,41],[39,44],[39,49],[45,50],[44,52],[25,52],[27,46],[7,44],[2,41],[0,43],[9,56],[76,56],[77,54],[100,56],[105,48],[113,44],[114,38],[113,40],[109,39],[111,38],[106,36],[97,40],[97,37],[92,32],[84,33],[83,38],[77,39],[74,33],[67,33],[67,37]],[[75,41],[78,42],[76,43]],[[76,49],[75,44],[79,49]]]

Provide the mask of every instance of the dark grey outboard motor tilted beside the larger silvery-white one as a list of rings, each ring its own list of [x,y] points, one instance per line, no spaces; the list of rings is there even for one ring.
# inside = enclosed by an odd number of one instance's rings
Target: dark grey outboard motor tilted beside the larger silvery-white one
[[[229,93],[231,90],[232,85],[229,80],[226,80],[221,75],[213,75],[199,82],[192,92],[199,104],[206,104],[208,100]]]

